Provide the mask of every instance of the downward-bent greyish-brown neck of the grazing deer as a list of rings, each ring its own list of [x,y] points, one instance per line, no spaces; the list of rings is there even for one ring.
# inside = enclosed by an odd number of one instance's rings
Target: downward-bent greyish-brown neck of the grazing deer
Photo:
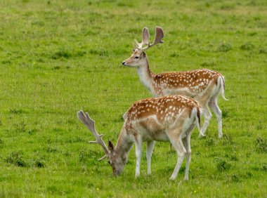
[[[122,128],[119,138],[117,140],[117,145],[115,147],[115,152],[121,157],[128,156],[129,151],[133,145],[133,137],[126,133],[125,127]]]

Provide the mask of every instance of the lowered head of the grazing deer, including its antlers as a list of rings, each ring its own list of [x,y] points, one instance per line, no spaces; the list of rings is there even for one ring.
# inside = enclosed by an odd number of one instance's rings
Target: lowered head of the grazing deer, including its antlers
[[[112,142],[108,141],[108,147],[105,145],[104,141],[102,140],[102,136],[97,133],[95,128],[95,121],[89,117],[89,114],[80,110],[77,113],[77,116],[80,121],[91,131],[93,136],[95,136],[96,140],[90,141],[89,143],[95,143],[101,145],[103,147],[103,150],[105,152],[105,155],[98,159],[98,161],[102,161],[105,158],[108,158],[108,164],[112,166],[113,174],[115,176],[118,176],[120,173],[122,173],[124,166],[127,162],[127,155],[126,154],[120,154],[113,146]]]

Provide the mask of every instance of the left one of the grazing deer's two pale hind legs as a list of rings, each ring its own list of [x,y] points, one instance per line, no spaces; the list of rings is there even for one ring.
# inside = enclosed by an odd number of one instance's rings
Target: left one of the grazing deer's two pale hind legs
[[[174,172],[172,173],[171,178],[169,178],[170,180],[175,180],[175,178],[177,177],[177,174],[181,168],[181,165],[183,163],[183,159],[185,158],[185,153],[186,153],[185,147],[183,146],[183,142],[181,140],[181,133],[177,133],[177,132],[178,132],[177,130],[171,130],[171,131],[168,131],[167,133],[167,136],[169,137],[171,145],[173,145],[174,149],[176,150],[177,157],[178,157],[176,166],[174,168]]]

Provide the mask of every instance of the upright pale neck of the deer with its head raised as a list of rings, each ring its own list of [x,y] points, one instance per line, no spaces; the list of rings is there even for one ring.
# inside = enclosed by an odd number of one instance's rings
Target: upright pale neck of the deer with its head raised
[[[145,59],[144,65],[141,67],[137,67],[137,73],[140,81],[143,83],[145,88],[148,88],[150,92],[152,92],[152,84],[153,84],[153,73],[149,69],[148,59]]]

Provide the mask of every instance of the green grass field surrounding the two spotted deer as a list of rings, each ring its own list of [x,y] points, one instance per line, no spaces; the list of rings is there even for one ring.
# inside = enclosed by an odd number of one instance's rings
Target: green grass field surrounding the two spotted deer
[[[168,3],[167,3],[168,2]],[[226,78],[222,139],[191,138],[189,181],[169,180],[176,152],[156,143],[152,176],[135,154],[112,176],[82,109],[116,142],[122,114],[150,94],[122,67],[143,27],[164,44],[153,72],[209,68]],[[0,197],[266,197],[267,1],[0,1]]]

